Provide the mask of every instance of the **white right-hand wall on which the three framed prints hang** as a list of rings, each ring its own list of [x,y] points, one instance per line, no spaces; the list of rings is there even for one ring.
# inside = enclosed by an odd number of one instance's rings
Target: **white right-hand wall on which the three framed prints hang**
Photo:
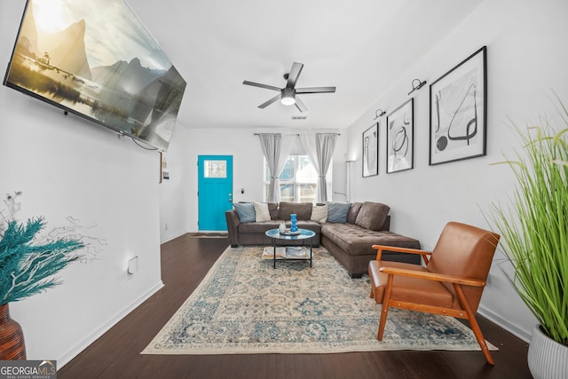
[[[558,119],[551,90],[568,103],[568,3],[486,0],[466,20],[376,100],[349,128],[348,150],[357,158],[355,199],[382,201],[391,207],[391,230],[419,239],[432,249],[446,222],[461,221],[488,228],[483,211],[492,201],[506,201],[513,178],[505,165],[490,166],[501,153],[520,148],[509,128],[538,122],[540,114]],[[487,46],[487,155],[462,162],[429,166],[430,99],[428,85],[414,97],[414,170],[386,173],[386,115],[380,130],[379,175],[361,178],[361,133],[375,117],[409,99],[414,78],[434,82],[439,76]],[[558,122],[558,128],[562,123]],[[564,125],[565,127],[565,125]],[[528,339],[536,320],[497,265],[496,257],[480,312]]]

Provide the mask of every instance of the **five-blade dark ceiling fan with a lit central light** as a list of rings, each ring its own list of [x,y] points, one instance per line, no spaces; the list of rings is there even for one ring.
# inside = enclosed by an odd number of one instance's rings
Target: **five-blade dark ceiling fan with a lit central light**
[[[302,73],[302,68],[304,68],[303,63],[294,62],[292,64],[292,68],[290,69],[289,74],[284,74],[284,79],[287,81],[286,87],[284,88],[278,88],[267,84],[248,82],[248,80],[245,80],[242,83],[246,85],[252,85],[255,87],[265,88],[267,90],[280,92],[272,99],[265,101],[260,106],[258,106],[259,108],[268,107],[272,103],[275,103],[276,101],[280,100],[280,102],[285,106],[296,105],[296,108],[298,108],[300,112],[305,112],[308,110],[308,108],[305,107],[304,102],[302,102],[302,100],[300,100],[300,98],[298,98],[296,95],[304,95],[306,93],[335,92],[335,87],[296,88],[296,82],[298,81],[300,73]]]

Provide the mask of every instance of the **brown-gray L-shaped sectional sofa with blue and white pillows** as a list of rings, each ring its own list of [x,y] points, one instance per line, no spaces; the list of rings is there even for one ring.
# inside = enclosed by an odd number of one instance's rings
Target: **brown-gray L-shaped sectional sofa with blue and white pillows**
[[[367,273],[369,261],[376,257],[375,244],[420,249],[414,238],[389,231],[390,208],[380,202],[249,202],[235,203],[234,207],[225,212],[232,247],[270,245],[272,241],[264,233],[282,222],[289,226],[290,214],[295,213],[298,227],[316,233],[313,246],[329,250],[351,278]],[[386,251],[383,260],[418,264],[420,256]]]

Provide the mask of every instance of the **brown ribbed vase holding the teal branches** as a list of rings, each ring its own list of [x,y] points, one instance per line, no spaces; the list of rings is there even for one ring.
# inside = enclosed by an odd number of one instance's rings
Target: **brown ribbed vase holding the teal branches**
[[[26,344],[20,324],[10,318],[8,304],[0,305],[0,360],[26,359]]]

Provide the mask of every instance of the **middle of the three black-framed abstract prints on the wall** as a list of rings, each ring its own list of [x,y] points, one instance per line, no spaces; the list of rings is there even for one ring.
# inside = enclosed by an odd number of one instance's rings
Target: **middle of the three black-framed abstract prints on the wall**
[[[414,99],[387,116],[387,173],[414,167]]]

